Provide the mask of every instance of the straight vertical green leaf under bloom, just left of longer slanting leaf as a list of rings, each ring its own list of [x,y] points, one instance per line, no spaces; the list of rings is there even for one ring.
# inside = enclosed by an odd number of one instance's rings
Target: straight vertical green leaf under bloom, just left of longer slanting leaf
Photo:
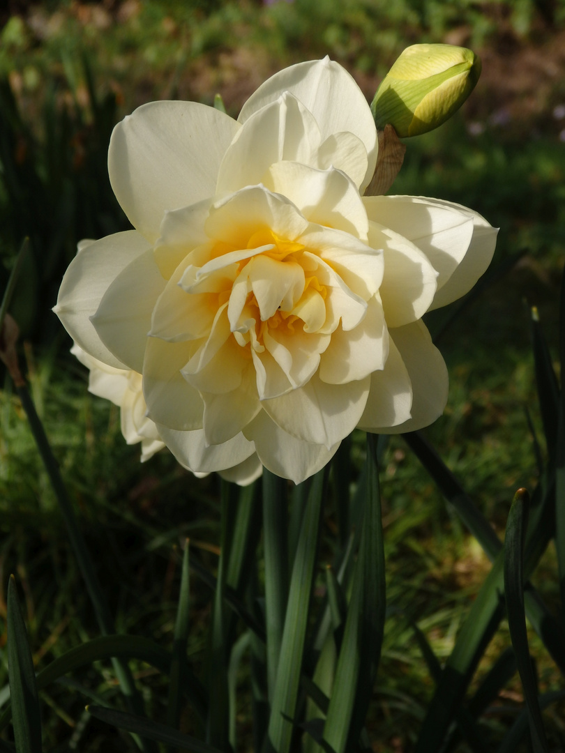
[[[282,628],[289,596],[288,514],[286,480],[263,469],[263,547],[265,561],[265,620],[267,627],[267,686],[273,699],[279,665]]]

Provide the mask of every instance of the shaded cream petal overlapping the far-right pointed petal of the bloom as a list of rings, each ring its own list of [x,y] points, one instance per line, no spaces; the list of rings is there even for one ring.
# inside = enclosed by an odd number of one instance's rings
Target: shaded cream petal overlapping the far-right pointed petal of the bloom
[[[420,248],[438,272],[438,290],[466,255],[473,220],[455,205],[412,196],[363,197],[368,218],[389,227]]]

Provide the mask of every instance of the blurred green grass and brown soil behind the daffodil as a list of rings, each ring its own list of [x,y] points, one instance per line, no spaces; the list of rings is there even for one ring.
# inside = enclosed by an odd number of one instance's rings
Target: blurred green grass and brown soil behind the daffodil
[[[500,227],[487,283],[457,316],[441,310],[427,322],[450,370],[449,404],[428,434],[502,530],[513,492],[533,486],[537,474],[532,429],[541,435],[541,423],[530,306],[538,307],[557,355],[565,254],[565,2],[14,0],[0,11],[0,291],[29,236],[31,253],[11,312],[25,341],[22,360],[38,412],[93,551],[104,552],[97,563],[119,630],[171,638],[179,578],[173,545],[190,535],[191,547],[213,569],[218,482],[194,479],[166,453],[139,464],[139,448],[121,437],[118,409],[87,393],[84,369],[68,354],[69,337],[50,312],[78,240],[128,227],[106,172],[112,127],[151,99],[212,104],[215,93],[237,116],[268,75],[325,54],[350,70],[370,100],[396,56],[423,41],[471,47],[483,73],[449,123],[406,140],[391,193],[457,201]],[[96,635],[96,625],[3,370],[0,380],[2,589],[17,572],[41,660]],[[355,452],[360,462],[360,446]],[[401,438],[390,443],[382,483],[393,614],[371,733],[379,741],[375,750],[401,753],[411,749],[432,691],[407,620],[417,620],[445,657],[488,563]],[[331,532],[331,511],[326,524]],[[535,581],[553,605],[551,547]],[[197,592],[195,599],[190,651],[197,663],[209,594]],[[3,630],[0,622],[0,646]],[[505,623],[498,640],[508,642]],[[538,672],[542,690],[560,687],[542,654]],[[98,691],[111,689],[109,674],[106,681]],[[157,712],[160,682],[143,678]],[[93,720],[81,737],[80,697],[61,690],[43,698],[53,710],[45,741],[51,749],[63,749],[56,745],[73,735],[81,751],[123,749],[118,733]],[[520,702],[516,680],[494,726],[512,720]],[[243,708],[242,724],[246,713]],[[551,714],[551,734],[561,745],[554,749],[564,750],[563,717],[557,707]]]

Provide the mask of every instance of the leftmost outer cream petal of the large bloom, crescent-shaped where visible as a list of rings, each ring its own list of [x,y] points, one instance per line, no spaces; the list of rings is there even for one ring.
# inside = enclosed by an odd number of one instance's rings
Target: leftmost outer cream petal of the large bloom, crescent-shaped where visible
[[[127,366],[102,343],[90,317],[115,278],[148,248],[151,246],[136,230],[115,233],[88,244],[69,264],[53,308],[75,343],[94,358],[118,369]]]

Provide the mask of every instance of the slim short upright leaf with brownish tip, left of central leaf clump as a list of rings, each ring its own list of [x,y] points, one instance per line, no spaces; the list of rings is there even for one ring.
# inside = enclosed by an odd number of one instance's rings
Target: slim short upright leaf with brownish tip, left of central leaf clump
[[[186,645],[188,641],[188,611],[190,608],[190,568],[188,564],[188,539],[182,553],[181,587],[179,605],[176,611],[175,633],[173,639],[173,659],[171,660],[169,699],[166,707],[166,723],[178,729],[181,715],[181,678],[185,676],[187,657]],[[173,753],[173,751],[171,751]]]

